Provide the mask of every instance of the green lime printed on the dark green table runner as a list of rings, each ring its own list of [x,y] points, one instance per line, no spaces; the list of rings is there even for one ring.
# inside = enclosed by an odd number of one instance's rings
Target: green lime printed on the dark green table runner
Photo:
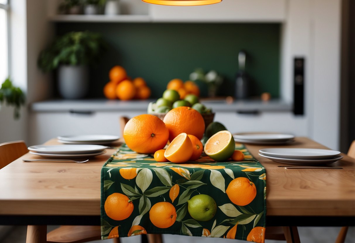
[[[216,214],[217,204],[211,196],[199,194],[187,201],[187,210],[193,219],[208,221]]]

